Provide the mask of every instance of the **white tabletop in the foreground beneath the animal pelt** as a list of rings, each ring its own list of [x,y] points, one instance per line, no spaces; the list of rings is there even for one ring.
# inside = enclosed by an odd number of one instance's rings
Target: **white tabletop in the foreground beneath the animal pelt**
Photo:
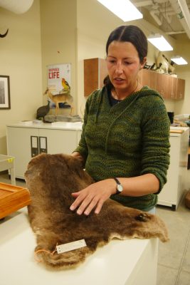
[[[0,222],[1,285],[156,285],[157,239],[113,240],[75,269],[52,271],[33,257],[26,208]]]

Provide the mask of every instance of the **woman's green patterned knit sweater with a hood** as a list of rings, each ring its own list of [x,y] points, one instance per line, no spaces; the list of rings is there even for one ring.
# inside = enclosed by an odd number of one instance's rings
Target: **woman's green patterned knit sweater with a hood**
[[[153,173],[159,192],[167,182],[169,118],[162,97],[144,86],[111,106],[107,88],[95,90],[86,102],[83,132],[78,147],[85,170],[95,181]],[[127,207],[148,211],[157,195],[112,195]]]

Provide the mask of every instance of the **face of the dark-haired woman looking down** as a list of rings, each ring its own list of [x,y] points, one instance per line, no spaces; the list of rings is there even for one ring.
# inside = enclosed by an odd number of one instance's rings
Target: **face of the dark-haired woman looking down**
[[[128,90],[137,85],[140,63],[137,49],[130,42],[112,41],[107,52],[107,71],[116,90]]]

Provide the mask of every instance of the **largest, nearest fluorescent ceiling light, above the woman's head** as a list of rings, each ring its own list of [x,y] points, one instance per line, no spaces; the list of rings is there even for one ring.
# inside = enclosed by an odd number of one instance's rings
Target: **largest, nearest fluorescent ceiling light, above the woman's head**
[[[123,21],[142,19],[142,14],[129,0],[97,0]]]

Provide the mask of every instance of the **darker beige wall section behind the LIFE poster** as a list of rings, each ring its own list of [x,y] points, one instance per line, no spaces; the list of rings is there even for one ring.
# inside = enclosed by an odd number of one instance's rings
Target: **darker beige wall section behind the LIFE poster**
[[[71,95],[74,113],[77,113],[76,95],[76,46],[77,46],[76,0],[41,0],[41,49],[43,92],[47,88],[47,66],[71,63]],[[46,105],[47,96],[43,96]],[[70,110],[62,110],[70,113]]]

